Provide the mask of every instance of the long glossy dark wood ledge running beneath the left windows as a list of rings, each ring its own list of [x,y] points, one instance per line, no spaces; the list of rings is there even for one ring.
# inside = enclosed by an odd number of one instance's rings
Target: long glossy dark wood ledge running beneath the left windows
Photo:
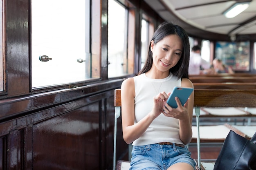
[[[96,93],[119,88],[122,81],[123,79],[116,79],[77,88],[66,88],[51,92],[3,99],[0,100],[0,120],[11,119],[11,117],[33,113],[33,111],[36,110],[53,107],[82,97],[90,96],[89,99],[92,99]]]

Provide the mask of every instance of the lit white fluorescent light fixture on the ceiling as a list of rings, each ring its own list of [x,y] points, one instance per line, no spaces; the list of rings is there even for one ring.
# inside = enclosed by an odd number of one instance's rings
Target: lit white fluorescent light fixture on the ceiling
[[[238,2],[234,4],[232,7],[230,7],[227,11],[225,11],[223,14],[226,18],[234,18],[239,13],[245,11],[249,7],[250,2]]]

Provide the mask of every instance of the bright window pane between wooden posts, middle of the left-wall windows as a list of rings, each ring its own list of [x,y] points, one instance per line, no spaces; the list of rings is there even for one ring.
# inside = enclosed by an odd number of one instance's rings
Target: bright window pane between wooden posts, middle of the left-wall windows
[[[108,77],[128,74],[127,14],[115,0],[108,1]]]

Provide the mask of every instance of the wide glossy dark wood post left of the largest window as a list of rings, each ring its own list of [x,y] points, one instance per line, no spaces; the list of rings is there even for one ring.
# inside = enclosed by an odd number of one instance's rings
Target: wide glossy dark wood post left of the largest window
[[[29,0],[6,0],[8,96],[29,93]]]

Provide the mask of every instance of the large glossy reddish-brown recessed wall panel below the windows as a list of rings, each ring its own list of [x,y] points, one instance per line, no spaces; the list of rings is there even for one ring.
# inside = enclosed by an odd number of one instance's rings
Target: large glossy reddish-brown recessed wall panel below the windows
[[[93,103],[34,124],[33,169],[101,169],[99,107]]]

